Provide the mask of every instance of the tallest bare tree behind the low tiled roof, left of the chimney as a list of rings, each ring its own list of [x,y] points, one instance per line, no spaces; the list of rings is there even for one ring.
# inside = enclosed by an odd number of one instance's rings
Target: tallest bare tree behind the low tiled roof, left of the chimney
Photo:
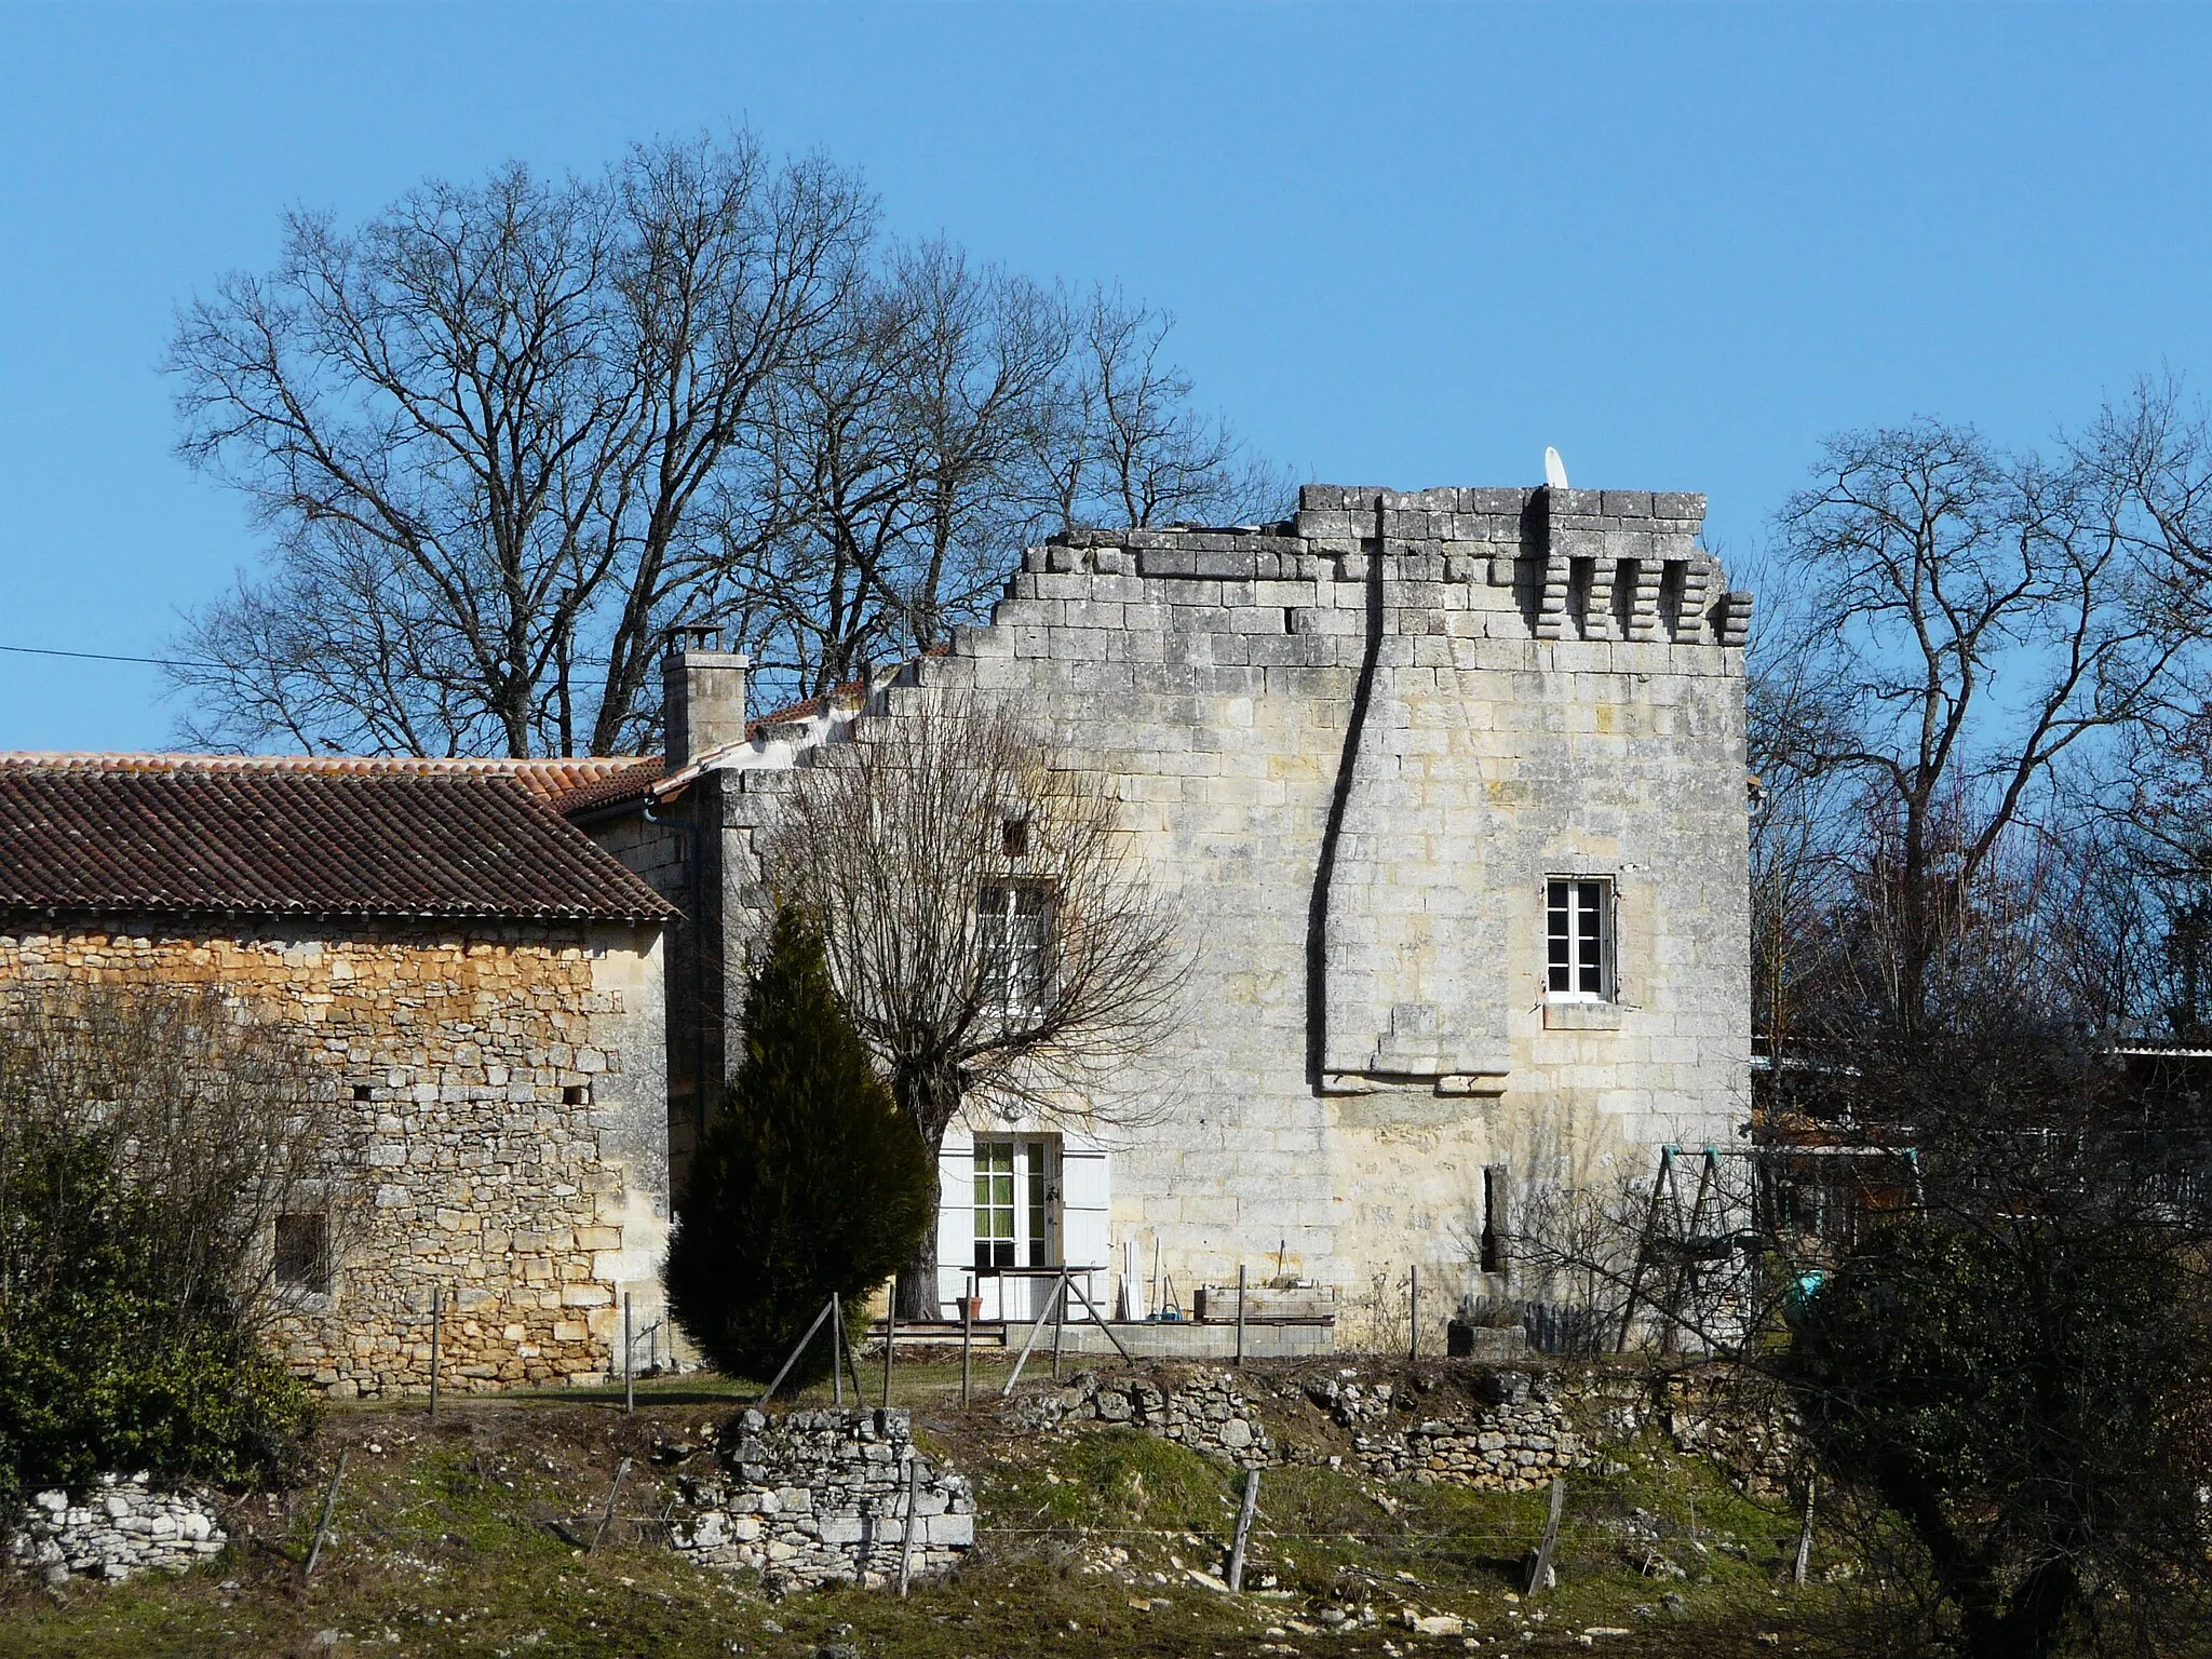
[[[872,228],[849,175],[743,133],[427,184],[358,234],[294,212],[276,272],[226,276],[170,347],[184,456],[279,549],[188,630],[188,737],[635,741],[659,630],[721,571],[697,509]]]

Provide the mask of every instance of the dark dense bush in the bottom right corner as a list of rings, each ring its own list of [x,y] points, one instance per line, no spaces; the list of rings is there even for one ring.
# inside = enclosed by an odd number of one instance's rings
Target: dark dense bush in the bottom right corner
[[[2170,1232],[1891,1223],[1803,1307],[1787,1371],[1829,1478],[1911,1528],[1962,1652],[2201,1617],[2205,1334]]]

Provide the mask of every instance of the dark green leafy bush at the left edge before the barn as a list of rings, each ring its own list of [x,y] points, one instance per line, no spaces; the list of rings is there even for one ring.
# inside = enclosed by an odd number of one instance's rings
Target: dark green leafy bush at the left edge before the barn
[[[237,1298],[195,1283],[168,1194],[133,1188],[100,1128],[35,1119],[0,1177],[0,1500],[102,1471],[281,1478],[312,1400]]]

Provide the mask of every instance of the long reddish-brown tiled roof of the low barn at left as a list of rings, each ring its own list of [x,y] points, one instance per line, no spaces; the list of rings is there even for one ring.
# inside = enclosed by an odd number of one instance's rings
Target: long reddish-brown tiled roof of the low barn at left
[[[615,770],[0,754],[0,911],[664,920],[551,810]]]

